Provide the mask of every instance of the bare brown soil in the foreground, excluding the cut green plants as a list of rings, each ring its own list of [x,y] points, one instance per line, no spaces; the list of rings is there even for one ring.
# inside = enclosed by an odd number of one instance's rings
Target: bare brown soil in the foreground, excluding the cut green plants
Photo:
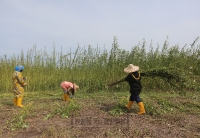
[[[60,99],[42,99],[52,106]],[[62,104],[64,101],[59,101]],[[28,127],[10,130],[8,123],[21,108],[12,105],[9,99],[1,100],[0,137],[2,138],[199,138],[200,115],[173,111],[157,116],[137,115],[136,105],[121,116],[108,112],[114,104],[109,102],[95,104],[92,100],[79,101],[82,108],[74,115],[61,118],[54,115],[44,119],[49,112],[41,107],[26,118]],[[37,105],[36,101],[33,104]],[[39,108],[39,107],[38,107]],[[48,108],[50,109],[50,107]]]

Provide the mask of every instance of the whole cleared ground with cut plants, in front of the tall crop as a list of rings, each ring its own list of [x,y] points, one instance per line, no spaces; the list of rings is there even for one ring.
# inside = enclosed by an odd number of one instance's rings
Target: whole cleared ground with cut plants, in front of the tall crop
[[[146,115],[130,110],[128,92],[78,91],[62,101],[62,91],[26,92],[24,108],[13,106],[12,94],[1,94],[0,137],[200,137],[200,94],[144,91]]]

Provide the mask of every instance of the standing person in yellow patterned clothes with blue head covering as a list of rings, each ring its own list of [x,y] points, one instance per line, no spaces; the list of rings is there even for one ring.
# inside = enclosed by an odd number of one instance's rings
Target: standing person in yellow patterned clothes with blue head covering
[[[12,76],[13,91],[14,91],[14,105],[23,107],[22,99],[24,96],[24,86],[27,85],[25,78],[22,75],[24,67],[22,65],[16,66]]]

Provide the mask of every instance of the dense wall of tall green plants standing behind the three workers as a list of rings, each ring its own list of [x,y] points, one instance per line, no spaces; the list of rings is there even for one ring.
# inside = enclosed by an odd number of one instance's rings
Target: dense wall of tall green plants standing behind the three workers
[[[198,37],[199,38],[199,37]],[[12,91],[12,73],[14,67],[21,64],[25,67],[23,75],[27,77],[26,91],[43,91],[60,89],[63,80],[76,82],[81,91],[97,92],[105,89],[105,85],[126,75],[123,69],[130,63],[140,66],[144,89],[179,89],[200,90],[200,45],[198,38],[191,48],[169,46],[166,40],[163,46],[156,49],[152,44],[147,51],[146,41],[134,46],[131,51],[120,49],[114,37],[112,48],[107,51],[98,46],[93,48],[77,47],[75,52],[52,53],[37,50],[33,46],[26,53],[7,57],[0,56],[0,91]],[[114,90],[128,89],[124,85]]]

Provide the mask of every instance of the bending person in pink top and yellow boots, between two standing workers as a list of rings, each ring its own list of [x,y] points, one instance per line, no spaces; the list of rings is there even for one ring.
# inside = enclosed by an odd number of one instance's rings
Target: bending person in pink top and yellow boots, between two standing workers
[[[70,101],[70,96],[74,96],[76,90],[79,89],[76,83],[71,83],[69,81],[63,81],[60,87],[63,89],[63,101]]]

